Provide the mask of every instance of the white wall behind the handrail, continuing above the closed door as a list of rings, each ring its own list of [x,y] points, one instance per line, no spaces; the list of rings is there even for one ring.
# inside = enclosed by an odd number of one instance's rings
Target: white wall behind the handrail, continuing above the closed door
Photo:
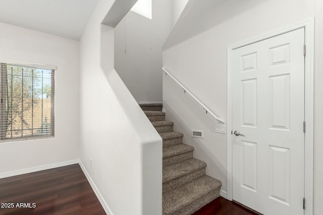
[[[314,0],[196,1],[188,22],[176,25],[166,41],[163,65],[227,121],[227,46],[313,17],[314,5]],[[185,134],[190,129],[204,130],[204,139],[185,135],[184,141],[195,147],[194,156],[206,161],[207,174],[220,179],[221,189],[226,191],[226,134],[213,132],[214,124],[202,116],[180,88],[175,90],[169,77],[164,77],[163,89],[166,118],[175,119],[175,130]]]

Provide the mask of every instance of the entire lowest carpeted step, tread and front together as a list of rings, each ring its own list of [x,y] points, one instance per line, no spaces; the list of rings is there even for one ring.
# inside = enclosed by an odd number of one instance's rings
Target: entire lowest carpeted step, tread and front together
[[[221,181],[204,175],[163,193],[163,215],[189,215],[220,196]]]

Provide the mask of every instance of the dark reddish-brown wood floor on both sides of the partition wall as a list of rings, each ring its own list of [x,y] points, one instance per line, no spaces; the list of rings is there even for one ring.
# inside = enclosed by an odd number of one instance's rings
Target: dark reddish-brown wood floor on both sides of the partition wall
[[[8,207],[8,204],[5,203],[14,203],[14,207],[3,208],[4,206]],[[33,205],[33,203],[35,204]],[[125,202],[126,205],[127,202]],[[0,214],[91,215],[105,214],[105,212],[80,166],[74,164],[0,179]],[[216,214],[247,215],[256,213],[222,197],[194,213],[194,215]]]

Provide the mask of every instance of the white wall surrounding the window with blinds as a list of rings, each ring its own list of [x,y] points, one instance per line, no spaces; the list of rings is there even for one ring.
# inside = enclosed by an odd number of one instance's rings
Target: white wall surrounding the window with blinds
[[[0,143],[0,173],[79,158],[79,42],[0,23],[0,58],[56,65],[55,138]]]

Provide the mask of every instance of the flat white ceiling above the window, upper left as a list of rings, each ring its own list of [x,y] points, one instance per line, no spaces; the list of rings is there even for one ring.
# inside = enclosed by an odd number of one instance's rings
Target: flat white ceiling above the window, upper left
[[[79,40],[98,0],[0,0],[0,22]]]

